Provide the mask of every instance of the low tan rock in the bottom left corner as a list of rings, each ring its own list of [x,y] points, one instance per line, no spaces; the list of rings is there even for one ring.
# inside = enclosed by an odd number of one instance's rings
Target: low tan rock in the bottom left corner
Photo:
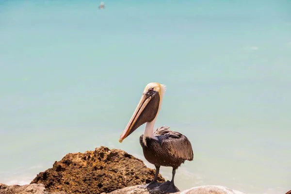
[[[43,184],[4,185],[0,183],[0,194],[66,194],[65,192],[47,192]]]

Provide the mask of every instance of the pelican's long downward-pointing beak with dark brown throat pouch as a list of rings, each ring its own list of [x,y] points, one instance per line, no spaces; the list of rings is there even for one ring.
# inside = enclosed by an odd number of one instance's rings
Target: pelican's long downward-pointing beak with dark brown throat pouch
[[[135,129],[146,122],[152,121],[159,108],[160,96],[159,92],[151,91],[144,92],[141,97],[133,115],[131,116],[128,125],[120,135],[119,142],[121,143],[127,136],[129,136]]]

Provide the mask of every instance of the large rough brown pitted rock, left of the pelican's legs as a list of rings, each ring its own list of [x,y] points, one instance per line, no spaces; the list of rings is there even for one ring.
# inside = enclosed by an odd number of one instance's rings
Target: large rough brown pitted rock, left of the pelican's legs
[[[69,153],[53,167],[39,173],[32,183],[42,183],[49,192],[67,194],[110,193],[117,189],[152,181],[155,170],[127,152],[108,147]],[[161,175],[159,182],[164,182]]]

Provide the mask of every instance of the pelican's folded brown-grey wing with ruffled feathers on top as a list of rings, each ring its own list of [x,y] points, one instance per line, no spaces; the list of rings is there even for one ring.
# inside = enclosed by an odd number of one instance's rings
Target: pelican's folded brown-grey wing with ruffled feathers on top
[[[163,136],[162,147],[175,157],[188,161],[193,160],[192,145],[185,135],[179,132],[171,131],[169,127],[157,128],[154,135]]]

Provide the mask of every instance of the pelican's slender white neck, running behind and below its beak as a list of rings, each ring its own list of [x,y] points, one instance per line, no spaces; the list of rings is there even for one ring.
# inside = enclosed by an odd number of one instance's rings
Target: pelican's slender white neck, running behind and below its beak
[[[144,142],[145,146],[146,146],[146,137],[149,137],[149,138],[158,140],[157,136],[154,135],[154,126],[155,126],[155,123],[156,123],[158,114],[159,114],[159,112],[161,110],[163,95],[164,95],[164,93],[166,91],[166,86],[165,85],[162,85],[162,84],[161,84],[161,86],[162,86],[162,88],[160,90],[161,92],[159,92],[159,95],[160,95],[160,103],[159,103],[159,108],[158,108],[158,112],[156,114],[156,117],[151,122],[147,122],[146,123],[146,128],[145,128],[144,137],[143,137],[143,142]]]

